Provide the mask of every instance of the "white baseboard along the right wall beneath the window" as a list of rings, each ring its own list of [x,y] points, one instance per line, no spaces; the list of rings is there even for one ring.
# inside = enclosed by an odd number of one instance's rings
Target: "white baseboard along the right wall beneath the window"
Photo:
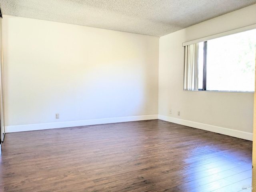
[[[173,118],[173,117],[168,117],[163,115],[158,115],[158,118],[160,120],[164,120],[164,121],[168,121],[168,122],[172,122],[180,125],[185,125],[193,128],[198,128],[206,131],[211,131],[215,133],[220,133],[220,134],[237,137],[241,139],[246,139],[250,141],[252,141],[252,138],[253,138],[253,134],[249,132],[228,129],[224,127],[218,127],[218,126],[213,126],[213,125],[208,125],[208,124],[203,124],[203,123],[198,123],[198,122],[193,122],[193,121],[188,121],[188,120],[183,120],[183,119],[178,119],[178,118]]]

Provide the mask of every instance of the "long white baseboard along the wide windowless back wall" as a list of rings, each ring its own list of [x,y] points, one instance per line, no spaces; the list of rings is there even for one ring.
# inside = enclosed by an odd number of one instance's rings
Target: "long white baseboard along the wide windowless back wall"
[[[82,120],[82,121],[5,126],[5,132],[12,133],[12,132],[34,131],[34,130],[97,125],[97,124],[107,124],[107,123],[120,123],[120,122],[152,120],[152,119],[158,119],[158,115],[130,116],[130,117],[104,118],[104,119],[92,119],[92,120]]]

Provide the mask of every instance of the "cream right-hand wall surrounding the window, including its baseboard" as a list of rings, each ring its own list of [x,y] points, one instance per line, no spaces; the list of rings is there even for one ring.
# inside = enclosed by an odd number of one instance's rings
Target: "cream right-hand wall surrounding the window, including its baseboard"
[[[256,4],[160,38],[160,119],[252,140],[254,94],[183,91],[182,47],[186,41],[252,24],[256,24]]]

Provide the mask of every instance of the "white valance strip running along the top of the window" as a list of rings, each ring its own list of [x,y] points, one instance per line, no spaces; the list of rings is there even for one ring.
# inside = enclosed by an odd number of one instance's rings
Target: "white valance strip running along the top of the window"
[[[222,33],[218,33],[215,35],[211,35],[211,36],[207,36],[207,37],[203,37],[203,38],[199,38],[199,39],[195,39],[195,40],[191,40],[191,41],[187,41],[187,42],[182,43],[182,46],[184,47],[187,45],[200,43],[200,42],[204,42],[207,40],[211,40],[211,39],[215,39],[215,38],[219,38],[219,37],[223,37],[223,36],[227,36],[227,35],[232,35],[235,33],[240,33],[240,32],[244,32],[244,31],[248,31],[248,30],[252,30],[252,29],[256,29],[256,24],[238,28],[238,29],[234,29],[234,30],[230,30],[230,31],[226,31],[226,32],[222,32]]]

